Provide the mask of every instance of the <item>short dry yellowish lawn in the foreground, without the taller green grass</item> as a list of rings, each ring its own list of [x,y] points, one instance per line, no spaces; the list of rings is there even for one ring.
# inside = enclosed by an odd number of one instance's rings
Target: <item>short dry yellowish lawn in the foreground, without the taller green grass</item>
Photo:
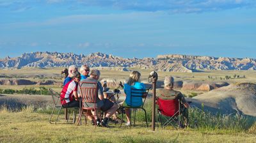
[[[255,142],[256,135],[227,130],[127,128],[111,124],[111,128],[94,128],[83,123],[48,122],[49,114],[31,110],[0,112],[0,142]]]

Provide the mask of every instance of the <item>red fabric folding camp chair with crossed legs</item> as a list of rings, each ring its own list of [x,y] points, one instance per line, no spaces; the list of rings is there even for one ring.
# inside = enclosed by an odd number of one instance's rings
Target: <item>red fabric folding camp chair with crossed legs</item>
[[[163,100],[158,97],[157,107],[157,122],[160,122],[163,128],[169,124],[175,128],[180,126],[180,101],[178,99]]]

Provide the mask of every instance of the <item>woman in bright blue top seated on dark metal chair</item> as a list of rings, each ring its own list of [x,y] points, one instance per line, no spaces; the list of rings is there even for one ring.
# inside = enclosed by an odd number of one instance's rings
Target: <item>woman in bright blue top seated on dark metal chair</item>
[[[142,95],[141,96],[137,96],[134,97],[132,96],[131,98],[131,89],[145,89],[145,85],[143,83],[140,82],[140,72],[138,71],[133,71],[131,72],[128,82],[126,84],[124,84],[124,93],[125,93],[125,101],[124,101],[124,107],[140,107],[142,105]],[[130,109],[129,108],[125,108],[125,114],[126,114],[126,118],[127,118],[127,126],[131,125],[131,121],[130,121]]]

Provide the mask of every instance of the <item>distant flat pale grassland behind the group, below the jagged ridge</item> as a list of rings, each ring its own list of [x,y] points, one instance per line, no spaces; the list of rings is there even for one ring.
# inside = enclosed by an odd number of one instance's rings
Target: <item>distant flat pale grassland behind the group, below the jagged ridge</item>
[[[12,79],[28,79],[33,81],[42,80],[56,80],[57,82],[62,82],[60,72],[63,68],[20,68],[6,70],[1,69],[0,75],[1,79],[6,77],[12,77]],[[141,70],[138,68],[130,68],[130,70],[138,70],[141,72],[141,80],[148,81],[149,70]],[[125,80],[129,77],[130,72],[120,72],[115,70],[101,70],[100,79],[120,79]],[[197,81],[197,82],[252,82],[256,83],[256,71],[205,71],[205,72],[195,72],[195,73],[182,73],[182,72],[157,72],[159,75],[159,80],[164,80],[167,75],[172,75],[175,80],[183,81]],[[39,77],[35,77],[38,75]],[[239,75],[239,78],[234,78],[234,75]],[[231,77],[231,79],[225,79],[225,77]],[[210,77],[210,78],[209,78]],[[244,78],[245,77],[245,78]],[[29,85],[29,86],[1,86],[1,89],[23,89],[34,87],[38,89],[40,86]],[[61,90],[60,86],[45,86],[52,87],[57,91]]]

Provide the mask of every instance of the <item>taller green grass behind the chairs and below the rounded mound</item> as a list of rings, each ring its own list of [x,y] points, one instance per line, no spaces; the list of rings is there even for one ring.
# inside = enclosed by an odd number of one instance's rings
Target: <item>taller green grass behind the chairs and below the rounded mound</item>
[[[152,120],[151,99],[147,100],[144,108],[147,110],[147,121],[149,123]],[[143,110],[138,110],[136,112],[136,121],[145,121],[145,113]],[[220,113],[212,114],[211,112],[204,110],[204,105],[202,105],[202,109],[198,109],[197,107],[189,108],[189,127],[198,128],[200,130],[232,130],[234,132],[241,132],[248,130],[252,124],[255,123],[255,121],[255,117],[227,115]]]

